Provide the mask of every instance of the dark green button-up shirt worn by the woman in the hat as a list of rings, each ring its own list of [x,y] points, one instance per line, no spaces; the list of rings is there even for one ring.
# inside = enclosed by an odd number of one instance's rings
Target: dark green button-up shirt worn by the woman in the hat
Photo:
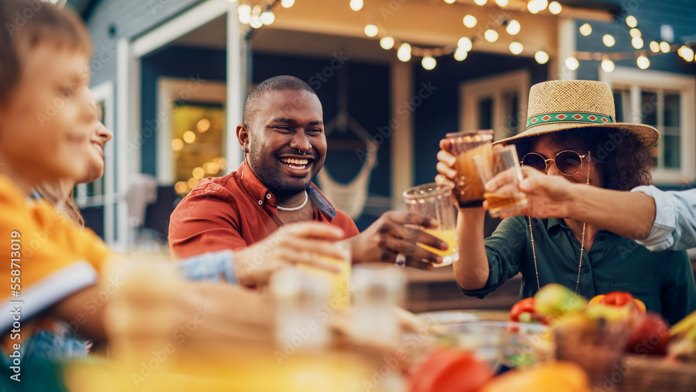
[[[512,217],[500,223],[485,240],[490,267],[486,287],[462,290],[464,294],[483,298],[520,272],[520,297],[537,292],[528,222],[527,217]],[[580,241],[563,219],[532,219],[532,229],[539,286],[560,283],[575,290]],[[653,253],[633,240],[600,230],[592,248],[583,252],[578,293],[592,298],[612,291],[630,292],[670,324],[696,310],[696,283],[686,251]]]

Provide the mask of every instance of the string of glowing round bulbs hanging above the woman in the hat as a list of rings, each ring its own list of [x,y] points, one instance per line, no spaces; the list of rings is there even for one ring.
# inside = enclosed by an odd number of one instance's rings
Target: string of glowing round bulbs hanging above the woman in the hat
[[[445,3],[452,4],[456,0],[443,0]],[[474,0],[478,6],[484,6],[489,0]],[[505,8],[510,3],[509,0],[491,0],[491,3],[496,3],[500,8]],[[363,9],[365,0],[349,0],[349,6],[351,10],[360,11]],[[532,14],[541,13],[542,11],[548,10],[548,13],[553,15],[559,15],[562,13],[563,7],[557,1],[548,2],[548,0],[528,0],[526,4],[527,10]],[[477,18],[474,15],[467,14],[462,19],[464,26],[468,28],[473,28],[477,25]],[[644,42],[642,39],[642,33],[638,29],[638,21],[633,16],[626,17],[626,24],[630,27],[631,44],[636,49],[635,52],[574,52],[569,58],[566,58],[564,64],[570,70],[576,70],[580,65],[579,60],[593,60],[601,61],[601,67],[605,72],[612,72],[614,70],[614,61],[636,58],[636,65],[638,68],[644,70],[649,68],[650,56],[656,56],[658,54],[665,54],[670,52],[677,52],[681,58],[685,61],[694,61],[694,52],[690,47],[692,42],[686,42],[683,45],[670,45],[668,42],[662,41],[651,41],[649,43],[649,52],[643,49]],[[379,36],[379,45],[386,50],[397,48],[397,58],[400,61],[410,61],[412,56],[422,57],[421,65],[426,70],[432,70],[437,64],[436,57],[454,55],[454,59],[457,61],[464,61],[468,56],[468,52],[473,49],[473,45],[477,40],[487,40],[488,42],[496,42],[500,37],[498,29],[501,26],[505,26],[505,31],[509,36],[516,36],[521,30],[521,25],[516,19],[507,19],[499,24],[495,29],[487,29],[483,33],[480,33],[473,37],[462,37],[459,38],[456,45],[444,45],[441,47],[418,47],[409,42],[405,42],[395,38],[394,36],[388,34],[386,31],[381,31],[379,27],[374,24],[365,25],[365,36],[374,38]],[[580,26],[579,31],[583,36],[589,36],[592,33],[592,26],[590,24],[583,24]],[[615,38],[610,34],[603,36],[602,41],[606,47],[612,47],[615,44]],[[519,55],[524,51],[524,45],[514,40],[509,44],[509,51],[514,55]],[[537,51],[535,53],[535,60],[537,63],[544,64],[548,62],[549,56],[543,50]]]

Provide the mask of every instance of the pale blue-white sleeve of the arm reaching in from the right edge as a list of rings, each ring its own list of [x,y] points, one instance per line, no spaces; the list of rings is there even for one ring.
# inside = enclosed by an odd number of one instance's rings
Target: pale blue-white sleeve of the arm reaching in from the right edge
[[[696,246],[696,189],[661,191],[650,185],[638,191],[655,200],[655,221],[647,238],[637,241],[651,251]]]

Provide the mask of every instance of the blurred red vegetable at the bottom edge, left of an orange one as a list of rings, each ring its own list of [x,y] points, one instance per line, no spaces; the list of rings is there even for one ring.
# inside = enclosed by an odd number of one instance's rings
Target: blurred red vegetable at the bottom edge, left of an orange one
[[[495,373],[473,352],[443,348],[411,371],[411,392],[475,392]]]

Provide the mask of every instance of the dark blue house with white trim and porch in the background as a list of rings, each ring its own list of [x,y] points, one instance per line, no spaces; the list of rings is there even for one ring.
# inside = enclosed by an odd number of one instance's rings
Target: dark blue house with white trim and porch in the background
[[[259,0],[67,1],[93,37],[93,91],[115,131],[104,179],[81,186],[77,200],[111,246],[134,246],[136,224],[125,194],[139,174],[154,176],[160,186],[145,226],[164,235],[178,195],[201,177],[235,170],[242,160],[235,127],[244,97],[254,84],[283,74],[307,81],[322,101],[325,168],[335,182],[359,177],[375,154],[365,185],[351,182],[367,194],[359,228],[404,208],[406,187],[432,182],[446,133],[492,128],[502,139],[521,132],[530,86],[549,79],[606,81],[615,91],[618,120],[655,125],[663,134],[656,184],[694,185],[696,65],[675,52],[696,42],[690,1],[568,0],[558,2],[557,14],[548,5],[532,13],[525,0],[269,3],[274,21],[253,29],[240,19],[255,11],[240,6],[260,6]],[[638,33],[631,32],[629,16],[637,21],[640,49],[633,46],[631,34]],[[585,24],[592,29],[587,36],[580,31]],[[611,47],[606,35],[614,38]],[[470,40],[470,49],[461,38]],[[668,53],[651,52],[652,41],[666,42]],[[392,49],[382,48],[390,43]],[[649,60],[644,70],[636,62],[642,54]],[[601,63],[611,59],[607,72]]]

